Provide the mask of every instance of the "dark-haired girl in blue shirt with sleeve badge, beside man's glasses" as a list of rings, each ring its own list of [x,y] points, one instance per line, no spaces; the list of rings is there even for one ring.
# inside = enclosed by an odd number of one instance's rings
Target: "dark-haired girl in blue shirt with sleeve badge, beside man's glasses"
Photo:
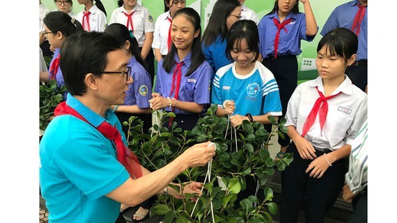
[[[152,114],[150,113],[149,100],[152,99],[152,81],[148,73],[148,65],[141,57],[137,40],[134,38],[132,31],[129,31],[123,24],[110,24],[105,28],[105,33],[109,33],[120,44],[124,44],[125,52],[127,53],[128,61],[127,67],[131,69],[132,83],[128,85],[127,96],[124,99],[123,105],[111,106],[111,109],[116,113],[120,123],[128,122],[131,116],[136,116],[143,121],[143,133],[149,133],[149,128],[152,126]],[[132,122],[131,126],[137,125],[138,122]],[[123,125],[123,132],[128,140],[132,140],[130,136],[129,126]],[[151,171],[151,170],[150,170]],[[149,213],[150,206],[155,202],[156,197],[152,196],[146,201],[143,201],[139,209],[132,216],[133,220],[143,220]],[[120,212],[129,208],[125,204],[121,204]]]

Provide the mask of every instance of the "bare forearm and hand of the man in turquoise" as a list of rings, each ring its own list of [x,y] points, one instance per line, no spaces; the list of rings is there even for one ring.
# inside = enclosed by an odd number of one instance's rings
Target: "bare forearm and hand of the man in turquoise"
[[[106,196],[128,206],[137,206],[142,201],[159,193],[188,167],[198,167],[207,164],[212,156],[215,155],[214,147],[207,147],[209,143],[195,144],[169,163],[169,165],[155,172],[149,172],[142,167],[142,177],[139,179],[127,179],[125,183]]]

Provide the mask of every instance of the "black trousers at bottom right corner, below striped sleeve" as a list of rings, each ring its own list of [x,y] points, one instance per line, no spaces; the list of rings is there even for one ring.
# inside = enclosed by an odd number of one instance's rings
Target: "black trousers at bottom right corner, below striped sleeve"
[[[368,222],[368,200],[366,190],[353,199],[352,205],[355,211],[350,215],[348,223]]]

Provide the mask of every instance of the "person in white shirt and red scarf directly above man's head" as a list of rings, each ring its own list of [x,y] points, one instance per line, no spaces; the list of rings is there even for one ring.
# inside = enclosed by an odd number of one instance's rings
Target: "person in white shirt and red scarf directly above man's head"
[[[77,14],[77,21],[83,25],[85,31],[103,32],[107,26],[106,10],[100,0],[77,0],[84,9]]]

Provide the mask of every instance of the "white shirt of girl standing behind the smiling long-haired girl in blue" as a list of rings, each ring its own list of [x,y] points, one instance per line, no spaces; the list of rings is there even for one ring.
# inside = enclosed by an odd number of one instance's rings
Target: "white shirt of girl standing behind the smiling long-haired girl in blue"
[[[155,33],[153,33],[153,43],[152,47],[155,49],[160,49],[160,53],[162,55],[166,55],[168,53],[168,31],[171,22],[167,18],[171,18],[169,11],[166,13],[162,13],[157,17],[155,23]]]

